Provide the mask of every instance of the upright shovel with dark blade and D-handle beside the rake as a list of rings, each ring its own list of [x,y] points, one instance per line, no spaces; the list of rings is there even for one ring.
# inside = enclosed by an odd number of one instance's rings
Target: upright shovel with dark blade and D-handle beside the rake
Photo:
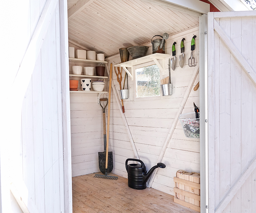
[[[103,107],[101,105],[101,101],[106,101],[106,105]],[[100,105],[103,111],[103,137],[104,137],[104,151],[103,152],[98,152],[99,155],[99,169],[100,171],[105,174],[105,165],[106,165],[106,114],[105,114],[105,109],[106,106],[108,105],[108,99],[100,99]],[[113,170],[113,152],[109,151],[108,152],[108,170],[107,173],[111,173]]]

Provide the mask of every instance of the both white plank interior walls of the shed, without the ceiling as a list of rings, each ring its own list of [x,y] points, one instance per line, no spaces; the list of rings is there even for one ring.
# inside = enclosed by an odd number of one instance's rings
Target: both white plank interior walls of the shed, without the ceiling
[[[199,27],[170,36],[165,44],[166,53],[172,54],[172,43],[176,41],[177,58],[179,58],[180,41],[182,37],[186,38],[184,68],[181,69],[179,67],[179,62],[177,61],[178,66],[176,70],[171,71],[174,86],[172,96],[160,96],[156,99],[142,98],[135,100],[134,82],[129,78],[129,99],[124,100],[125,117],[139,157],[144,161],[147,169],[150,169],[157,163],[157,158],[159,157],[163,143],[169,133],[188,83],[193,75],[195,67],[188,66],[188,58],[191,53],[190,44],[193,34],[197,35],[196,51],[194,56],[196,57],[196,62],[198,62]],[[69,45],[79,48],[72,44]],[[151,46],[151,44],[147,45]],[[152,47],[148,49],[147,54],[151,53]],[[120,63],[120,56],[118,54],[110,58],[106,58],[106,61],[109,62],[108,65],[110,67],[110,63],[113,63],[113,65]],[[165,60],[165,68],[164,77],[168,75],[168,59]],[[119,84],[114,70],[112,77],[118,91]],[[196,78],[194,86],[198,81],[199,75]],[[106,91],[108,91],[108,82],[106,85]],[[194,91],[192,89],[182,113],[194,112],[193,102],[199,106],[199,90]],[[96,102],[96,94],[88,95],[71,93],[70,109],[72,176],[99,172],[97,152],[103,151],[103,128],[102,109]],[[135,158],[135,154],[121,118],[113,91],[111,94],[110,116],[109,150],[113,151],[113,173],[127,177],[125,160],[127,158]],[[152,187],[159,189],[160,191],[173,194],[173,176],[176,175],[177,170],[184,169],[194,172],[200,171],[199,139],[186,138],[180,123],[178,123],[162,162],[165,163],[167,167],[165,169],[158,170]]]

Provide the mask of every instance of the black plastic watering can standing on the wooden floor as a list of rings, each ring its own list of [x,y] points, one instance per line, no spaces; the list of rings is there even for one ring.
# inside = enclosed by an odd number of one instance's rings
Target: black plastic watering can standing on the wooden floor
[[[138,164],[127,164],[129,160],[137,161]],[[147,187],[147,180],[152,175],[156,168],[165,168],[165,164],[157,163],[148,172],[146,171],[146,166],[143,161],[139,159],[128,158],[125,161],[125,168],[128,173],[128,186],[135,189],[145,189]]]

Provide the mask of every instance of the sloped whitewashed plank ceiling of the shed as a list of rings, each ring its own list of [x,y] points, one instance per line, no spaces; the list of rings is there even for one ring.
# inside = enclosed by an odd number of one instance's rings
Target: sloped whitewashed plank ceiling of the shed
[[[68,9],[76,2],[68,0]],[[108,57],[198,24],[198,17],[143,0],[95,0],[68,20],[68,33],[69,40]]]

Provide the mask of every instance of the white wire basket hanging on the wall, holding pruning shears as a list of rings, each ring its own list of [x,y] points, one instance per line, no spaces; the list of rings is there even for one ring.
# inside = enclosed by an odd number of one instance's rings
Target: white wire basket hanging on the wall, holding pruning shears
[[[198,117],[200,113],[198,112]],[[179,121],[183,128],[184,134],[187,138],[199,138],[200,137],[200,123],[199,118],[196,118],[196,113],[181,114]]]

